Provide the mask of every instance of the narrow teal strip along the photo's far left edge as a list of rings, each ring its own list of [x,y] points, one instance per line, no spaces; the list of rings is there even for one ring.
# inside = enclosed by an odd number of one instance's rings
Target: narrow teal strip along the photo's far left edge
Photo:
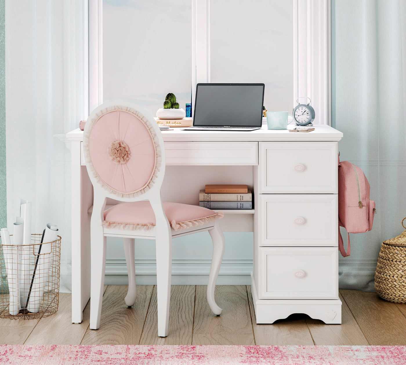
[[[5,64],[5,0],[0,0],[0,228],[7,226],[6,209],[6,64]],[[0,288],[4,288],[6,271],[0,247]],[[1,294],[1,293],[0,293]]]

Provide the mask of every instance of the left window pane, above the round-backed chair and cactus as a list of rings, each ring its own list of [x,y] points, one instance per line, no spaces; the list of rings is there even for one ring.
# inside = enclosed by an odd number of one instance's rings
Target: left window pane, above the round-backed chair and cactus
[[[192,2],[103,1],[103,101],[133,99],[153,116],[192,90]]]

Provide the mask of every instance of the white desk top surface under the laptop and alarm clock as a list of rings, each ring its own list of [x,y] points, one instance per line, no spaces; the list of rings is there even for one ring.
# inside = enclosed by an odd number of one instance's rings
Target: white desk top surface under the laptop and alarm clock
[[[295,126],[289,126],[293,129]],[[182,128],[173,128],[172,131],[162,131],[165,142],[192,142],[192,141],[339,141],[343,133],[328,125],[315,125],[311,132],[289,132],[289,130],[268,129],[262,125],[261,129],[251,132],[240,131],[183,131]],[[68,140],[83,141],[83,131],[79,128],[67,133]]]

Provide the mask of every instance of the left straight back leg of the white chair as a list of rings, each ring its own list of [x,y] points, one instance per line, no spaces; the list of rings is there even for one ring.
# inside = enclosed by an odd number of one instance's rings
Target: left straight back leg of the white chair
[[[91,284],[90,284],[90,328],[100,327],[102,313],[104,273],[106,271],[106,237],[103,227],[91,227]],[[102,241],[102,242],[100,242]],[[102,245],[100,244],[102,243]]]

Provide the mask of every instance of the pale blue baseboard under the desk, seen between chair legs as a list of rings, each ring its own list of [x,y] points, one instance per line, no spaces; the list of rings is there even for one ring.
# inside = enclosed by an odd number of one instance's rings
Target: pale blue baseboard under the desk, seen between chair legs
[[[208,258],[179,258],[172,260],[174,285],[205,285],[212,260]],[[252,259],[226,259],[218,274],[218,285],[249,285],[253,271]],[[136,281],[140,285],[156,284],[156,261],[154,258],[135,260]],[[106,259],[105,284],[128,284],[125,258]]]

